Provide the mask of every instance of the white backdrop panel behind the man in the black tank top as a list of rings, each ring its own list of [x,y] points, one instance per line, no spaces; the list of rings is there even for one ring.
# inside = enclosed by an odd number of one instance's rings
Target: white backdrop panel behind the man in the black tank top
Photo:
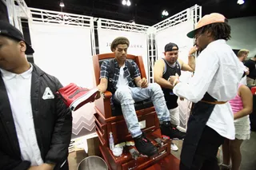
[[[194,22],[192,20],[182,22],[176,26],[171,26],[166,30],[159,31],[156,34],[156,42],[158,45],[158,59],[164,57],[164,48],[165,45],[169,42],[173,42],[178,45],[178,58],[182,59],[185,63],[188,62],[188,53],[190,48],[194,45],[194,40],[191,38],[187,38],[186,34],[190,32],[190,30],[194,29]],[[181,81],[188,82],[191,77],[190,72],[183,72],[180,77]],[[186,128],[186,121],[188,119],[188,115],[190,113],[189,109],[190,101],[180,101],[178,100],[179,110],[180,110],[180,121],[181,126]]]

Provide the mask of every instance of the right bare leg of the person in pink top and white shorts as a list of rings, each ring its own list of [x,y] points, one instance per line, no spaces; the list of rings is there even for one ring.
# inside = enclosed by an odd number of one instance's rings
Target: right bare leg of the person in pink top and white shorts
[[[230,156],[232,162],[232,170],[239,170],[242,161],[240,146],[243,140],[230,140]]]

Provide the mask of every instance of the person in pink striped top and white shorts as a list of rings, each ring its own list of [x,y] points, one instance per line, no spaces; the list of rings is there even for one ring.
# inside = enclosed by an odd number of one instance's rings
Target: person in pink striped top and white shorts
[[[250,139],[250,119],[249,114],[253,109],[253,95],[246,85],[241,83],[238,86],[238,94],[230,100],[230,105],[234,113],[235,139],[224,141],[222,144],[223,163],[221,169],[238,170],[241,164],[242,155],[240,146],[243,140]],[[231,158],[231,166],[230,166]]]

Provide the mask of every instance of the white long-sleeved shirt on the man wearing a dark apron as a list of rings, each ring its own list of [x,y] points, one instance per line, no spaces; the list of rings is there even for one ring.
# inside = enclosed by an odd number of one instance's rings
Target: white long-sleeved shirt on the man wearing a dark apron
[[[174,93],[194,103],[201,101],[206,92],[218,101],[230,101],[238,92],[243,73],[244,66],[230,46],[225,40],[217,40],[207,45],[198,56],[194,77],[189,84],[178,83]],[[234,115],[230,103],[215,105],[206,125],[233,140]]]

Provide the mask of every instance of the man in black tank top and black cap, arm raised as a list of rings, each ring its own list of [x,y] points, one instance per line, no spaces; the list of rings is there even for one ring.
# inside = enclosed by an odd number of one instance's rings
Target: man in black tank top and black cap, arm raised
[[[161,85],[162,91],[165,95],[166,105],[170,112],[171,127],[174,132],[179,136],[179,139],[185,137],[186,133],[178,130],[179,125],[179,110],[178,110],[178,96],[173,93],[174,86],[168,81],[170,76],[181,75],[182,71],[194,72],[194,53],[197,48],[194,46],[190,49],[188,64],[178,59],[178,45],[170,42],[165,46],[165,57],[159,59],[154,64],[154,81]],[[171,144],[171,149],[174,151],[178,150],[175,144]]]

